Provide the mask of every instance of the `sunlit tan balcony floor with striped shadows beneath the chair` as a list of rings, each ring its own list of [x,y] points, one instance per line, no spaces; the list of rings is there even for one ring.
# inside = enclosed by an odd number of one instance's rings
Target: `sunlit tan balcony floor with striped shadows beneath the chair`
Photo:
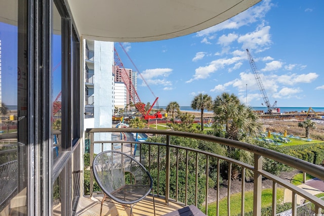
[[[78,201],[76,209],[76,215],[78,216],[99,216],[100,215],[100,203],[102,195],[94,195],[91,199],[89,197],[81,197]],[[164,199],[154,197],[155,200],[155,215],[164,215],[179,208],[183,208],[183,205],[179,205],[173,202],[167,204]],[[131,208],[125,206],[125,208],[115,202],[105,201],[102,208],[102,215],[105,216],[124,216],[130,215]],[[132,215],[154,215],[153,210],[153,198],[147,196],[133,207]]]

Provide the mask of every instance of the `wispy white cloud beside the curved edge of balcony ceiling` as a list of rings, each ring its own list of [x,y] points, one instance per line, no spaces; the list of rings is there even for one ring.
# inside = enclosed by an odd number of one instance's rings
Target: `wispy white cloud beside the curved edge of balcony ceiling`
[[[270,3],[270,0],[262,1],[260,5],[251,7],[248,10],[232,17],[231,19],[228,19],[205,30],[198,31],[196,33],[196,36],[205,37],[206,35],[211,35],[224,29],[238,29],[241,26],[255,23],[258,20],[264,18],[265,14],[271,9],[272,5],[273,4]]]

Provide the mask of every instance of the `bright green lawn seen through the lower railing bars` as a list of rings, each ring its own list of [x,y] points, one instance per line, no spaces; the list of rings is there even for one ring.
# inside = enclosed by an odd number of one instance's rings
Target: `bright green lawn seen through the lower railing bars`
[[[277,189],[277,203],[284,201],[284,188]],[[262,190],[261,206],[268,207],[272,204],[272,189]],[[205,207],[203,207],[205,209]],[[253,210],[253,191],[245,193],[245,212]],[[237,215],[241,210],[241,194],[230,196],[230,214]],[[216,215],[216,202],[208,205],[208,215]],[[219,202],[219,215],[227,215],[227,197]]]

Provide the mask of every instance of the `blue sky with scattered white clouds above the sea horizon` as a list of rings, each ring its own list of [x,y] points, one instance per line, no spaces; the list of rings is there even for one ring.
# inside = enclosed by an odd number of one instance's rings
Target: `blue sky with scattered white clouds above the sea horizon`
[[[195,95],[223,92],[243,103],[264,104],[251,69],[249,49],[272,105],[324,107],[324,1],[263,0],[211,28],[168,40],[123,43],[159,106],[190,106]],[[118,43],[126,68],[135,70]],[[155,100],[138,79],[143,103]]]

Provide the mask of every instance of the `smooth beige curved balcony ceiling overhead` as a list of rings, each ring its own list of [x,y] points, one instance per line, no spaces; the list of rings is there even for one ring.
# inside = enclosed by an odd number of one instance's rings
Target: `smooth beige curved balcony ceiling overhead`
[[[221,23],[261,0],[67,0],[84,38],[169,39]]]

